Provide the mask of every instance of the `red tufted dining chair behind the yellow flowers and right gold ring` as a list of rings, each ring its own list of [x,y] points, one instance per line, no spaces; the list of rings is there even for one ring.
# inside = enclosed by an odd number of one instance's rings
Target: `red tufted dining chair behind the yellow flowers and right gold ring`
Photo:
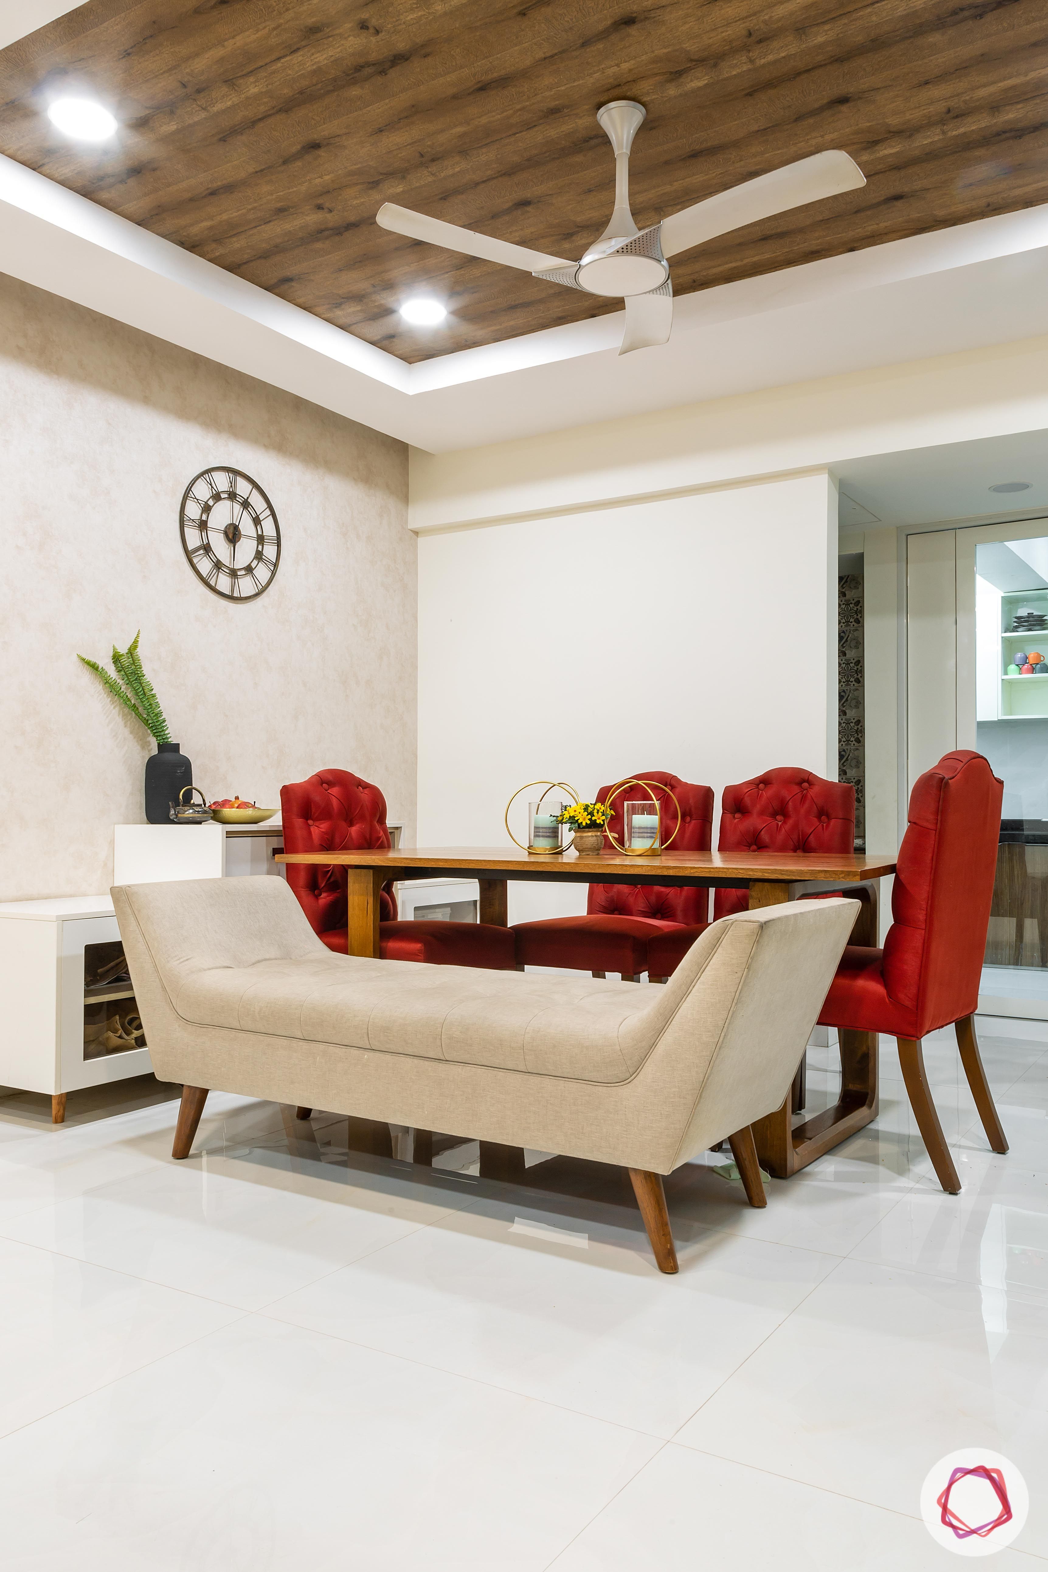
[[[627,777],[628,780],[630,777]],[[691,786],[666,770],[638,770],[636,780],[654,783],[660,821],[665,833],[672,832],[680,805],[680,830],[674,849],[709,852],[713,828],[713,792],[709,786]],[[611,786],[602,786],[597,802],[603,802]],[[668,788],[660,791],[660,788]],[[622,841],[622,810],[627,795],[621,792],[611,814],[611,830]],[[605,839],[605,846],[611,841]],[[566,967],[603,976],[617,971],[624,981],[638,981],[647,971],[647,945],[655,934],[698,923],[709,910],[709,893],[671,885],[589,885],[584,916],[553,916],[540,923],[515,923],[517,964],[529,967]]]

